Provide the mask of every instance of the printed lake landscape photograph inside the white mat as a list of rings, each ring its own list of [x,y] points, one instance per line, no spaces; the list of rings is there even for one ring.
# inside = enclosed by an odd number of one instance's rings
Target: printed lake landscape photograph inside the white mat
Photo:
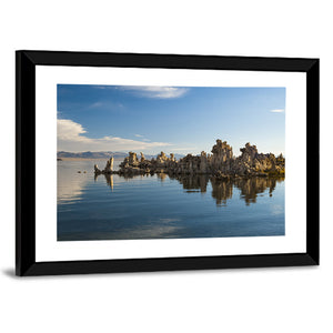
[[[57,240],[285,235],[285,88],[57,85]]]

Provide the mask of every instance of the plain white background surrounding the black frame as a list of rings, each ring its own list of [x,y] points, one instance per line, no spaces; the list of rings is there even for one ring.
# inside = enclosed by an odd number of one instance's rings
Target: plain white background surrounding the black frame
[[[3,2],[0,330],[332,332],[330,2]],[[321,266],[14,278],[17,49],[321,58]]]

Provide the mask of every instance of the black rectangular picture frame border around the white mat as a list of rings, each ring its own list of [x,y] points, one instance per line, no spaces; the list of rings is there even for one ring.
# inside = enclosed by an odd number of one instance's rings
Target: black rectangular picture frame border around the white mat
[[[36,262],[36,67],[120,67],[306,73],[306,252]],[[16,274],[87,274],[319,265],[320,60],[143,53],[16,52]]]

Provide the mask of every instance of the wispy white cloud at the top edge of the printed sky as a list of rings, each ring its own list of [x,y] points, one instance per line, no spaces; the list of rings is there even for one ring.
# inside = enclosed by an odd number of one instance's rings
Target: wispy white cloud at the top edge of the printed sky
[[[184,95],[189,89],[160,85],[121,85],[121,90],[131,91],[137,95],[151,99],[174,99]]]

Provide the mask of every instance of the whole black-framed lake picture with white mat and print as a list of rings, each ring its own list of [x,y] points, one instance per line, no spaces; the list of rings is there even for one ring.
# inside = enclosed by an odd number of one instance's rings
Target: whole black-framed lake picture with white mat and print
[[[319,59],[16,57],[17,275],[319,264]]]

